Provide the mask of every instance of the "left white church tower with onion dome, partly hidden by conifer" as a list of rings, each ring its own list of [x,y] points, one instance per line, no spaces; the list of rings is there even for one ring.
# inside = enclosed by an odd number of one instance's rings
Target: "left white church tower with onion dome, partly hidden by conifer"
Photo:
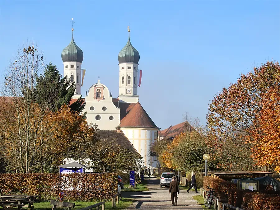
[[[73,21],[73,19],[72,19]],[[64,66],[64,77],[70,79],[71,82],[75,82],[76,91],[73,98],[80,98],[81,95],[81,66],[84,59],[84,54],[81,48],[75,43],[73,38],[72,28],[72,40],[61,53],[61,58]]]

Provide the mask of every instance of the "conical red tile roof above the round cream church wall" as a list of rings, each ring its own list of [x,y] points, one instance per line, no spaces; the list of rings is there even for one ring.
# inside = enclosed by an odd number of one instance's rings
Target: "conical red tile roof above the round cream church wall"
[[[119,103],[121,104],[127,104],[126,114],[120,121],[120,127],[121,128],[157,128],[159,129],[156,124],[152,121],[152,119],[149,117],[147,112],[143,109],[141,104],[133,103]]]

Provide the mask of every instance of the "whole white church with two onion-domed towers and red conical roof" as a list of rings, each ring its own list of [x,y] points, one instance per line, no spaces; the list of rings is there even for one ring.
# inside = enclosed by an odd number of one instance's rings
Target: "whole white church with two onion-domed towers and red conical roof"
[[[70,44],[63,49],[61,58],[64,66],[64,77],[76,84],[76,92],[73,100],[81,95],[81,86],[84,72],[81,69],[83,52],[77,46],[73,38]],[[149,117],[139,103],[138,62],[140,55],[130,42],[130,30],[128,30],[128,42],[119,52],[119,96],[113,98],[111,92],[100,83],[93,84],[86,92],[84,101],[86,119],[88,123],[96,125],[97,130],[121,130],[131,142],[136,151],[142,156],[143,166],[157,167],[157,157],[151,154],[150,146],[157,139],[160,128]]]

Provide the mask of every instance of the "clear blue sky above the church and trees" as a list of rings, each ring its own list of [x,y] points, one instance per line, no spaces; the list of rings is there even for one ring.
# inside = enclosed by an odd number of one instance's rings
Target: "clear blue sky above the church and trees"
[[[208,103],[240,73],[280,60],[280,1],[0,0],[0,70],[34,40],[63,74],[62,50],[83,50],[82,93],[97,82],[118,96],[118,54],[130,38],[143,69],[139,101],[161,129],[183,114],[206,124]]]

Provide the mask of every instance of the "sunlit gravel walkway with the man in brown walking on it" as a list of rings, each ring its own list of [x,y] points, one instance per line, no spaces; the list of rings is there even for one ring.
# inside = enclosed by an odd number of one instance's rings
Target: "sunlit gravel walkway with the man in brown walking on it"
[[[146,181],[146,180],[145,180]],[[172,206],[171,196],[168,193],[169,188],[160,188],[159,179],[147,180],[148,191],[125,191],[122,193],[123,197],[133,198],[134,203],[126,209],[203,209],[192,196],[199,195],[195,194],[194,191],[187,193],[186,190],[180,190],[178,195],[178,206]]]

